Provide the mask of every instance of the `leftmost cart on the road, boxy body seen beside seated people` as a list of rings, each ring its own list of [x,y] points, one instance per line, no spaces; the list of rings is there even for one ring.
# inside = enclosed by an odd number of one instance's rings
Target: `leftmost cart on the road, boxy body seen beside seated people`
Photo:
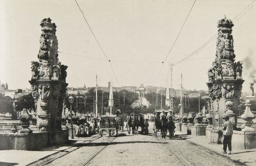
[[[119,120],[116,119],[116,115],[102,115],[100,117],[100,136],[102,136],[103,131],[109,131],[109,136],[111,136],[111,133],[114,133],[114,130],[116,131],[116,136],[118,136],[118,122]]]

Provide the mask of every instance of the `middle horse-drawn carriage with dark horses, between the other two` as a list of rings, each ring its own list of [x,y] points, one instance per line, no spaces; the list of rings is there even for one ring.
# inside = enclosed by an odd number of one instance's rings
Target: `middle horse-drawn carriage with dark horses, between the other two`
[[[148,133],[147,126],[145,126],[143,114],[131,114],[127,115],[127,132],[138,135],[138,128],[141,127],[141,133]]]

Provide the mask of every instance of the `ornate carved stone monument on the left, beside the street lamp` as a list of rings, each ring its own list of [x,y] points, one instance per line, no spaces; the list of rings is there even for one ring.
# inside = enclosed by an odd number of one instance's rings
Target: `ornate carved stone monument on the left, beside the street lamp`
[[[42,34],[37,55],[39,62],[31,61],[32,95],[35,99],[38,131],[62,131],[61,113],[66,94],[67,66],[58,59],[56,25],[51,19],[40,23]]]

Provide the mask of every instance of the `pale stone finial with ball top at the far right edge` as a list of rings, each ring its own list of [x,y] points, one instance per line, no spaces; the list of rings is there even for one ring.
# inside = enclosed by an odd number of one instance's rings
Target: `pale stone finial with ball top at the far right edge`
[[[241,115],[241,118],[244,120],[244,124],[242,124],[242,131],[247,131],[247,132],[254,132],[255,130],[251,127],[252,126],[252,119],[255,118],[255,115],[251,112],[251,102],[249,99],[245,101],[246,109],[244,113]]]

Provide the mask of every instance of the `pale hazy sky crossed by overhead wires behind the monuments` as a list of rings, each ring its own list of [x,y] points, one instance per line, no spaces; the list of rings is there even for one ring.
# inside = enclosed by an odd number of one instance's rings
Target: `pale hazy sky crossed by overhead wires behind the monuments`
[[[217,34],[217,21],[233,20],[234,53],[243,63],[243,91],[249,91],[256,59],[256,1],[196,0],[169,56],[194,0],[185,1],[0,1],[0,79],[9,89],[30,88],[30,61],[37,61],[41,20],[50,17],[57,26],[59,61],[69,66],[69,87],[163,86],[169,62],[176,63]],[[245,13],[245,14],[244,14]],[[242,16],[242,17],[241,17]],[[216,53],[216,39],[187,61],[173,67],[173,87],[179,88],[180,74],[186,89],[207,89],[207,70]],[[90,59],[93,57],[102,60]],[[248,61],[249,59],[249,61]],[[133,61],[133,62],[114,62]],[[148,63],[151,62],[151,63]],[[157,62],[157,63],[153,63]],[[253,63],[248,63],[253,62]],[[156,82],[156,84],[155,84]]]

